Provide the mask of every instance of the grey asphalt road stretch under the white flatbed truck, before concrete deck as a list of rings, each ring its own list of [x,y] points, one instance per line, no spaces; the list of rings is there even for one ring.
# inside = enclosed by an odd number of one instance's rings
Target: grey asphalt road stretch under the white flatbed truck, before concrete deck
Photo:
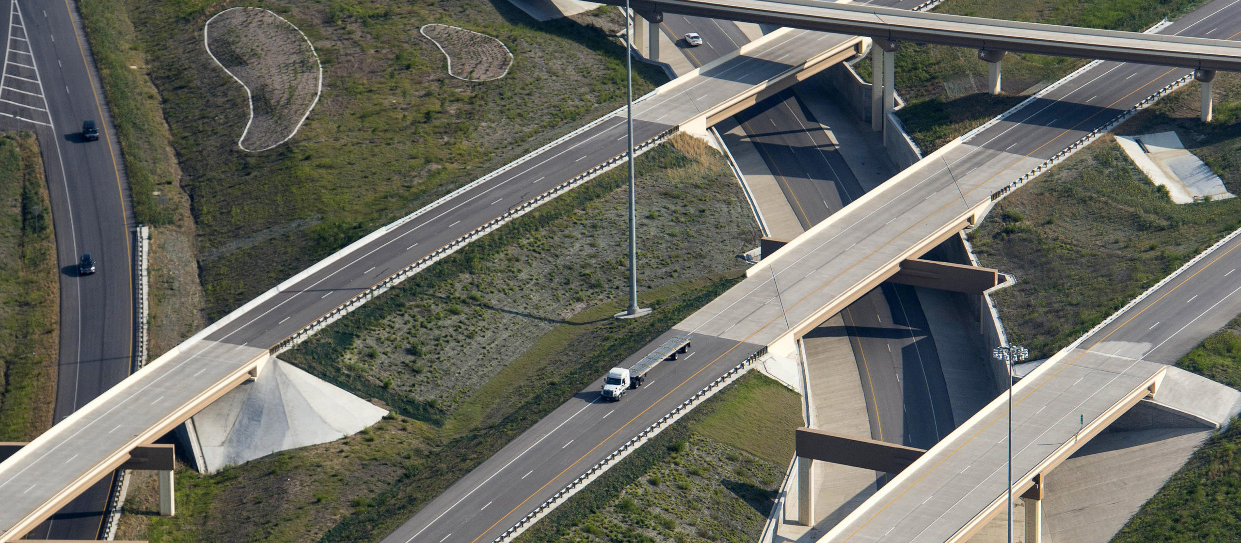
[[[628,367],[678,330],[628,357]],[[640,388],[618,402],[601,400],[602,376],[530,430],[457,481],[383,543],[490,542],[589,466],[612,454],[633,433],[671,412],[762,346],[694,335],[676,361],[653,369]],[[618,424],[601,424],[616,420]],[[627,431],[632,430],[632,431]]]

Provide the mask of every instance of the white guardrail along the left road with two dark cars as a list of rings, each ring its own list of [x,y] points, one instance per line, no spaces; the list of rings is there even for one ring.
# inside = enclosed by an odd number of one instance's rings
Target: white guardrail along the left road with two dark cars
[[[148,226],[139,226],[134,229],[134,360],[129,373],[137,372],[146,364],[148,343],[150,342],[150,330],[146,317],[150,315],[150,237],[151,229]],[[129,491],[129,470],[117,470],[117,476],[112,480],[112,491],[108,492],[108,507],[103,513],[103,524],[99,527],[99,538],[114,541],[117,537],[117,524],[120,522],[122,507],[125,505],[125,495]]]

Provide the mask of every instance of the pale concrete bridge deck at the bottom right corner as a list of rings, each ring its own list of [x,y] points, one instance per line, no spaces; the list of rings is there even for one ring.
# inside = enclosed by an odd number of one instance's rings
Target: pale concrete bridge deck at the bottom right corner
[[[1152,391],[1167,366],[1075,348],[1014,387],[1014,496]],[[1157,394],[1158,397],[1158,394]],[[944,438],[820,542],[965,541],[1006,501],[1008,395]],[[1082,420],[1085,424],[1082,424]]]

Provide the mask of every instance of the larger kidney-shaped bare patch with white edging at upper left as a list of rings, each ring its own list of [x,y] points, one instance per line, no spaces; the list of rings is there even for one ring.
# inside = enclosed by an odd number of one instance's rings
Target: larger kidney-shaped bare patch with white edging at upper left
[[[231,7],[204,26],[207,53],[249,94],[249,123],[237,141],[272,149],[297,134],[319,100],[323,71],[310,41],[279,15]]]

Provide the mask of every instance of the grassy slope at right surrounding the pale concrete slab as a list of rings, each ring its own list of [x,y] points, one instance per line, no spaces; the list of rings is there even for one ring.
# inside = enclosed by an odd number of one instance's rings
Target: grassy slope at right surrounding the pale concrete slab
[[[1237,108],[1241,77],[1216,89],[1221,108]],[[1241,193],[1241,123],[1200,123],[1196,98],[1193,88],[1174,93],[1117,133],[1175,130]],[[1044,358],[1239,226],[1241,198],[1175,205],[1103,138],[1008,196],[970,241],[983,265],[1016,275],[994,295],[1000,317]]]

